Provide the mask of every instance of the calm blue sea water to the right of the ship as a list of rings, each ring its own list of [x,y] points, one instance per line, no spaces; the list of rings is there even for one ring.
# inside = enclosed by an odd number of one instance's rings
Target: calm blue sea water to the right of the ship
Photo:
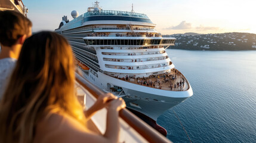
[[[158,118],[172,142],[256,142],[256,51],[167,49],[194,95]]]

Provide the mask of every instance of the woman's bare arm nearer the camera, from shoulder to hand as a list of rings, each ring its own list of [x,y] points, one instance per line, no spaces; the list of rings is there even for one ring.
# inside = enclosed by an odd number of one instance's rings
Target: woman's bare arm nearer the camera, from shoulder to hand
[[[118,142],[119,138],[119,120],[118,114],[122,108],[125,108],[125,102],[122,98],[110,101],[107,108],[107,127],[104,135],[91,132],[90,130],[83,130],[79,128],[79,123],[63,122],[51,136],[45,139],[45,142],[95,142],[95,143],[114,143]],[[75,119],[72,119],[75,120]],[[77,122],[75,120],[75,122]]]

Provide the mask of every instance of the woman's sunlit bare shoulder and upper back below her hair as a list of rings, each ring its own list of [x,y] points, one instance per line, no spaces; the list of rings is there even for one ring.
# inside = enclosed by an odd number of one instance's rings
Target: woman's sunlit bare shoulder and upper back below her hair
[[[67,114],[51,114],[39,122],[34,142],[97,142],[100,138]]]

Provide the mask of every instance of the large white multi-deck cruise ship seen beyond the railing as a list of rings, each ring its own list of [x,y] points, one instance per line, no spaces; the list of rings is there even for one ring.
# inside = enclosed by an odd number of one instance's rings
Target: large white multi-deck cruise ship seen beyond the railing
[[[164,38],[146,14],[103,10],[95,2],[87,13],[72,11],[55,32],[72,46],[85,79],[122,97],[127,108],[157,120],[164,111],[193,95],[186,77],[174,68]]]

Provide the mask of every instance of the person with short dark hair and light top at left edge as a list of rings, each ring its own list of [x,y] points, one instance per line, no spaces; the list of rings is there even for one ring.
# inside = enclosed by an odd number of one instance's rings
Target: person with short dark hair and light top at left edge
[[[15,67],[20,49],[32,34],[32,23],[16,11],[0,11],[0,100]]]

